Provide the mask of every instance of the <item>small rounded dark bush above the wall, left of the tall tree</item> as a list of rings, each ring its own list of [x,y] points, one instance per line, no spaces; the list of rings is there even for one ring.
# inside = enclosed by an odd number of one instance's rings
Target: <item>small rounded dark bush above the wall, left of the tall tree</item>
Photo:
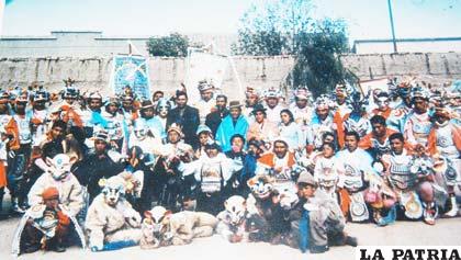
[[[151,56],[185,57],[188,47],[202,45],[200,43],[191,43],[187,36],[179,33],[171,33],[168,36],[150,37],[147,42],[147,50]]]

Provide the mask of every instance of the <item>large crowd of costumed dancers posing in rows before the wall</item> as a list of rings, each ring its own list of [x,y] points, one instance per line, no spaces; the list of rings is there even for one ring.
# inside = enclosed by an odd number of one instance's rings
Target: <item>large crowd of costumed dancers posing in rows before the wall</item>
[[[270,231],[258,239],[312,252],[357,246],[347,222],[435,225],[458,215],[459,82],[392,79],[368,92],[338,84],[315,99],[299,87],[291,102],[248,87],[245,101],[228,102],[203,80],[193,103],[184,89],[139,99],[127,87],[104,98],[65,82],[59,94],[40,86],[0,92],[0,212],[23,214],[18,253],[64,251],[70,229],[92,250],[111,239],[137,244],[140,216],[151,218],[155,206],[239,225],[228,205],[240,199],[244,231],[255,234],[246,218],[259,215]]]

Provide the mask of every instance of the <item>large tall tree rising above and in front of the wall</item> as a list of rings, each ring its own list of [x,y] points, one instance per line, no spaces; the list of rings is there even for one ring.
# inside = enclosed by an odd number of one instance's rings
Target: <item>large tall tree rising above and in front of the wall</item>
[[[285,84],[307,86],[318,95],[338,82],[355,81],[338,56],[348,52],[347,26],[342,20],[315,20],[308,0],[280,0],[251,5],[240,19],[238,55],[294,55],[295,65]]]

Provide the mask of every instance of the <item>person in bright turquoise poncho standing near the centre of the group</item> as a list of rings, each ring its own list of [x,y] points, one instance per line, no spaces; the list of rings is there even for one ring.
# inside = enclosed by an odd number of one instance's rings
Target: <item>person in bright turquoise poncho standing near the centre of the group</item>
[[[241,114],[241,104],[239,101],[231,101],[229,114],[223,120],[217,128],[216,140],[223,148],[223,151],[231,150],[231,137],[235,134],[245,136],[248,131],[248,121]]]

